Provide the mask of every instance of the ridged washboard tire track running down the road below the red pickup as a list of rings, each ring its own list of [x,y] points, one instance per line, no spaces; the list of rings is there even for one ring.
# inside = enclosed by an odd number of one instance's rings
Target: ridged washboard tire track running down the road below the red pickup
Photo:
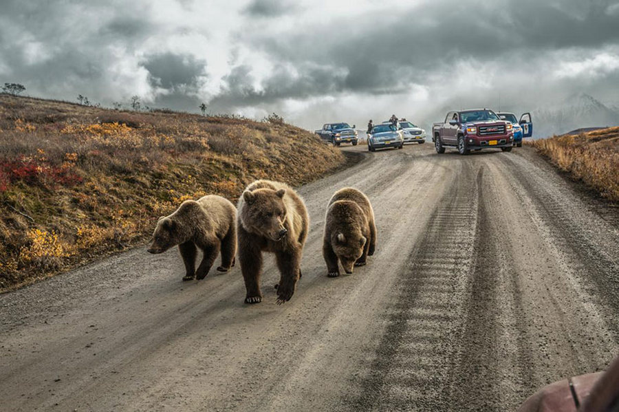
[[[471,173],[470,165],[461,165]],[[468,170],[467,170],[468,169]],[[376,351],[362,395],[351,410],[448,411],[462,302],[470,266],[478,203],[478,180],[452,176],[437,202],[416,252],[400,274],[395,305]],[[473,210],[473,213],[471,211]]]

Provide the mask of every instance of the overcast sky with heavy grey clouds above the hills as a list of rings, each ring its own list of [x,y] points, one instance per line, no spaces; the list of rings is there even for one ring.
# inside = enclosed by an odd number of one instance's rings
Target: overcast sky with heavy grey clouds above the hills
[[[619,0],[2,0],[0,83],[306,129],[619,105]]]

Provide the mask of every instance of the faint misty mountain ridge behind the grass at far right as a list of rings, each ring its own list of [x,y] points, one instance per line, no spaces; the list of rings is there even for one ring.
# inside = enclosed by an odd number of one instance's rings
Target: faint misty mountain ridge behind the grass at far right
[[[554,106],[532,112],[534,138],[561,135],[575,129],[619,125],[619,111],[608,107],[589,94],[570,96]]]

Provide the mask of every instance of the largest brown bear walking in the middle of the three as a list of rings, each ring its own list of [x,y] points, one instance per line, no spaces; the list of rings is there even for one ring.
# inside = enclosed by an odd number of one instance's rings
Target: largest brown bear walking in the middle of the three
[[[245,303],[262,301],[262,252],[275,254],[280,272],[277,304],[290,301],[301,277],[301,254],[310,227],[303,199],[287,184],[257,180],[243,192],[238,209],[239,263],[247,290]]]

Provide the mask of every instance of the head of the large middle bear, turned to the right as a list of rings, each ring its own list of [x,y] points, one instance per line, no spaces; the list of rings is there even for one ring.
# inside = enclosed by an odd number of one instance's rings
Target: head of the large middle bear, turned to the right
[[[243,226],[272,241],[280,241],[288,232],[286,221],[286,206],[283,202],[285,189],[274,191],[259,188],[255,191],[243,192],[246,206],[243,208]]]

